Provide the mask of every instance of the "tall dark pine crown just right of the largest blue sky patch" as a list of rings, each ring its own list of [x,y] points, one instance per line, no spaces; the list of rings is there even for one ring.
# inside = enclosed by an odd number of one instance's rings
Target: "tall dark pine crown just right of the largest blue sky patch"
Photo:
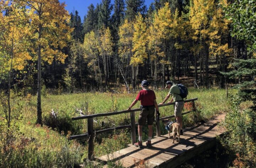
[[[100,4],[100,11],[98,13],[98,27],[107,28],[110,27],[111,12],[113,10],[113,4],[111,0],[102,0]]]

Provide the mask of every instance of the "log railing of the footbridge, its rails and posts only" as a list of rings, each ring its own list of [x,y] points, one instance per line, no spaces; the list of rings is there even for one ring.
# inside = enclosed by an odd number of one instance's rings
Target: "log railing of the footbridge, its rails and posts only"
[[[191,110],[191,111],[196,110],[196,106],[195,106],[195,103],[194,103],[195,100],[197,100],[197,98],[188,99],[188,100],[184,101],[185,103],[192,102],[193,110]],[[175,105],[175,103],[174,102],[166,103],[166,104],[158,105],[158,107],[169,106],[169,105]],[[132,140],[132,144],[134,144],[136,142],[136,126],[138,125],[138,123],[135,123],[135,111],[141,111],[141,110],[140,109],[131,109],[131,110],[124,110],[124,111],[117,111],[117,112],[99,113],[99,114],[92,114],[92,115],[86,115],[86,116],[73,117],[72,120],[81,120],[81,119],[86,119],[87,118],[87,133],[80,134],[80,135],[73,135],[73,136],[70,136],[69,139],[89,138],[88,139],[88,159],[89,160],[93,159],[93,153],[94,153],[93,137],[96,134],[110,132],[110,131],[114,131],[114,130],[118,130],[118,129],[131,128],[131,140]],[[188,114],[191,111],[183,112],[182,115]],[[107,128],[107,129],[102,129],[102,130],[94,131],[94,128],[93,128],[93,118],[95,118],[95,117],[103,117],[103,116],[112,116],[112,115],[124,114],[124,113],[130,113],[131,123],[129,125],[118,126],[118,127],[113,127],[113,128]],[[160,111],[160,113],[161,113],[161,111]],[[160,121],[168,119],[168,118],[172,118],[172,117],[174,117],[174,115],[166,116],[166,117],[161,117]],[[156,112],[155,112],[155,118],[157,118]],[[156,120],[156,136],[157,137],[161,136],[160,121]]]

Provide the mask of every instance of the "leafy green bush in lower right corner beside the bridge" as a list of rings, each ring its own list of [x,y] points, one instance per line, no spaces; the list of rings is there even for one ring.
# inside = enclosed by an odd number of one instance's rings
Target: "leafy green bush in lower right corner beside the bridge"
[[[256,113],[249,108],[241,108],[241,99],[234,97],[231,110],[222,123],[226,128],[220,138],[231,155],[235,167],[256,167]]]

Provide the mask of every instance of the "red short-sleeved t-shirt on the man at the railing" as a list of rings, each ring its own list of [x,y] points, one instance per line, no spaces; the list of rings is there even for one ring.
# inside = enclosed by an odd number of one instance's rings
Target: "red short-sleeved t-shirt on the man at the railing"
[[[155,92],[151,90],[141,90],[136,97],[136,100],[140,100],[140,104],[143,106],[154,105],[155,99]]]

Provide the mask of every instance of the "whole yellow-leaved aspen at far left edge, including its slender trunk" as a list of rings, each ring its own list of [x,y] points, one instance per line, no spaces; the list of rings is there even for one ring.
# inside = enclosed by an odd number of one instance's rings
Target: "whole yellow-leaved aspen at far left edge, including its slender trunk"
[[[0,1],[0,81],[7,84],[6,90],[0,92],[0,105],[4,112],[7,127],[11,126],[14,109],[11,103],[11,87],[18,73],[23,71],[27,60],[32,57],[28,53],[28,19],[26,9],[14,1]],[[15,100],[15,98],[14,98]],[[7,135],[9,135],[7,129]],[[7,137],[8,139],[8,137]]]

